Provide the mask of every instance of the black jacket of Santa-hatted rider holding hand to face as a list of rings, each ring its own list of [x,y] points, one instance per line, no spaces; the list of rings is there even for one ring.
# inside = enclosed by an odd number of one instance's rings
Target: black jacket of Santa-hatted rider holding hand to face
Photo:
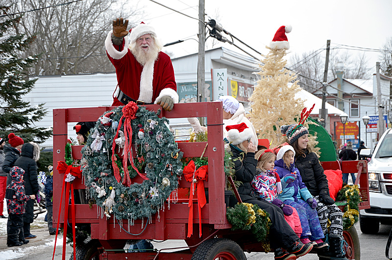
[[[236,170],[235,180],[243,182],[238,187],[241,200],[256,199],[257,196],[252,192],[252,186],[250,185],[250,182],[256,175],[257,160],[254,158],[254,153],[245,154],[245,152],[233,145],[230,145],[230,148],[233,153],[233,158],[242,158],[241,153],[244,153],[244,159],[242,161],[240,159],[234,161]]]

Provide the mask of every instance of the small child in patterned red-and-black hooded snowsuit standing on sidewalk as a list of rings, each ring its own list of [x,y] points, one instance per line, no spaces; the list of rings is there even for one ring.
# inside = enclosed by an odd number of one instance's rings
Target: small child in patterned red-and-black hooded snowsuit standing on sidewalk
[[[5,198],[7,199],[8,223],[7,246],[21,246],[27,244],[23,233],[23,214],[25,203],[35,199],[34,195],[26,195],[23,185],[25,171],[19,167],[12,167],[10,172],[11,183],[7,186]]]

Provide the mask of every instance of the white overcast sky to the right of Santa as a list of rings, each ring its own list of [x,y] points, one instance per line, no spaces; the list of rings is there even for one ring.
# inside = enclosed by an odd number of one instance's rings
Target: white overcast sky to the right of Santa
[[[198,17],[198,0],[156,0],[173,9]],[[279,3],[279,4],[278,4]],[[173,12],[150,0],[140,0],[146,13],[143,21],[156,28],[162,42],[169,43],[179,39],[197,39],[198,21]],[[392,0],[205,0],[206,21],[219,15],[219,22],[227,31],[264,54],[279,26],[290,24],[287,34],[292,53],[316,51],[325,48],[327,39],[331,48],[339,44],[380,49],[388,37],[392,37]],[[211,47],[207,39],[206,49]],[[236,44],[253,55],[257,53],[244,45]],[[244,53],[228,43],[223,46]],[[198,43],[187,40],[167,47],[175,57],[195,53]],[[344,50],[342,50],[344,51]],[[350,53],[355,56],[360,52]],[[378,52],[366,52],[368,67],[378,61]],[[245,53],[244,53],[245,54]],[[325,56],[325,52],[323,52]]]

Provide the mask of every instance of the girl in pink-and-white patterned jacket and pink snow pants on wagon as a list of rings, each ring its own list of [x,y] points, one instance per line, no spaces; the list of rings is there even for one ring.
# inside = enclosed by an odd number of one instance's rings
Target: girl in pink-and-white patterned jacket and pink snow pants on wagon
[[[278,194],[282,191],[282,184],[279,175],[276,173],[274,161],[276,159],[273,150],[259,150],[255,159],[258,160],[256,176],[251,182],[254,192],[260,199],[268,201],[283,210],[284,217],[298,237],[302,234],[301,221],[295,208],[283,204],[278,199]]]

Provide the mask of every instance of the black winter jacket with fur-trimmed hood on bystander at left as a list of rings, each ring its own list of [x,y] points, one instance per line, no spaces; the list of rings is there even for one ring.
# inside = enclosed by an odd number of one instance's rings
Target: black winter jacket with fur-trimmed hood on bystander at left
[[[24,181],[25,181],[25,192],[26,195],[35,195],[39,191],[39,184],[37,178],[37,163],[33,158],[37,157],[38,145],[25,143],[22,146],[21,157],[16,160],[15,166],[21,167],[25,170]],[[39,147],[38,147],[38,157],[39,157]]]

